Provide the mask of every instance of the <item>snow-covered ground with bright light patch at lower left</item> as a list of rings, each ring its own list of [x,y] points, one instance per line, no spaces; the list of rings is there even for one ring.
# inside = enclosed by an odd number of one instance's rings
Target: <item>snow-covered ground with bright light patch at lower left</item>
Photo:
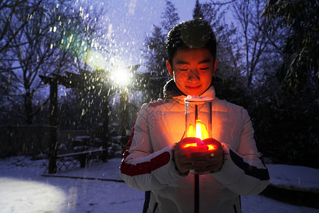
[[[107,163],[92,163],[87,168],[47,177],[43,176],[46,160],[30,160],[24,156],[0,159],[0,212],[142,212],[144,192],[118,182],[121,180],[120,162],[121,159],[113,158]],[[269,170],[271,177],[274,174],[274,178],[280,180],[279,173],[284,167]],[[318,170],[308,172],[306,180],[312,182],[310,187],[318,188]],[[309,178],[311,176],[313,178]],[[300,175],[293,177],[289,182],[296,179],[300,185],[303,181]],[[308,213],[319,212],[319,209],[285,204],[257,195],[242,197],[242,212]]]

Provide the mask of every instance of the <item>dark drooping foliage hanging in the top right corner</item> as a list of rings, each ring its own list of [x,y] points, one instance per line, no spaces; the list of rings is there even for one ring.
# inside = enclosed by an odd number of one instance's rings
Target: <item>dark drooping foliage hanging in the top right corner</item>
[[[269,22],[279,21],[288,32],[282,44],[280,71],[284,84],[297,91],[319,79],[318,1],[267,1],[262,15]]]

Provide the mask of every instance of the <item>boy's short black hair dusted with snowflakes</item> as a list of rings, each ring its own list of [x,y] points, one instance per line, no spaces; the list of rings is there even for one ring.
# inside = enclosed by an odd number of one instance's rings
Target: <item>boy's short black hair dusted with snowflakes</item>
[[[216,58],[216,36],[210,24],[202,18],[178,23],[167,34],[166,49],[171,65],[177,50],[191,48],[208,48]]]

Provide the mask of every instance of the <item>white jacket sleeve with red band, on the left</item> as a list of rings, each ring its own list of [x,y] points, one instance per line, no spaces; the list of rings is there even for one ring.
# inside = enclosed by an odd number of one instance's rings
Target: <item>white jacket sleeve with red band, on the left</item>
[[[121,178],[136,190],[158,190],[183,178],[173,161],[173,143],[154,152],[147,124],[147,104],[135,119],[121,163]]]

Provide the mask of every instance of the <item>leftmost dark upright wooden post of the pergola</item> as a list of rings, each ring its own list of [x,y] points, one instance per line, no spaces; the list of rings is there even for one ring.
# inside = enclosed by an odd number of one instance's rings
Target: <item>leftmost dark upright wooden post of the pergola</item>
[[[57,81],[50,82],[49,173],[57,172]]]

